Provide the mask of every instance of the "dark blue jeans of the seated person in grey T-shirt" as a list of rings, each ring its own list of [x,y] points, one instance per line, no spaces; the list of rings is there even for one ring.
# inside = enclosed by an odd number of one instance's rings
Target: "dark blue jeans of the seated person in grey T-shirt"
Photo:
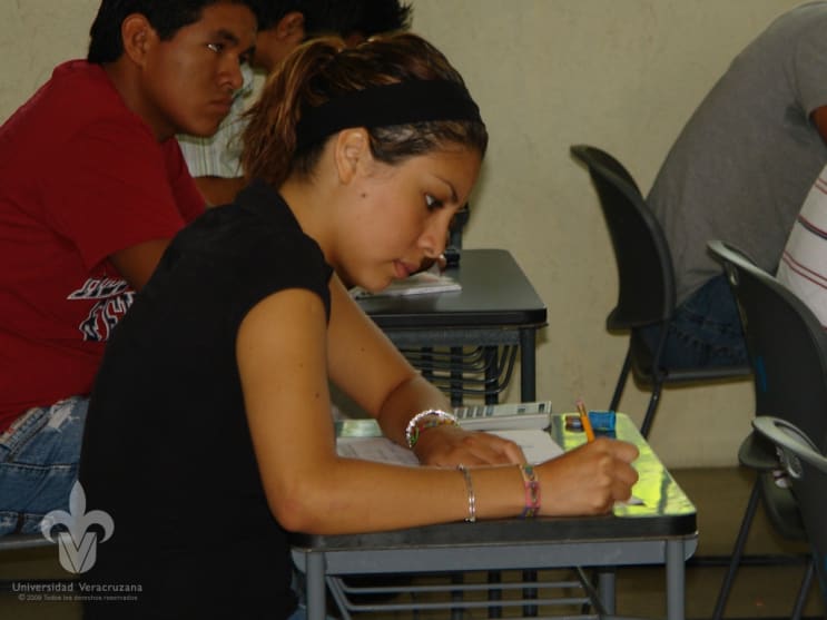
[[[644,327],[641,335],[654,351],[658,326]],[[680,368],[736,366],[747,361],[738,305],[726,277],[713,277],[676,308],[662,364]]]

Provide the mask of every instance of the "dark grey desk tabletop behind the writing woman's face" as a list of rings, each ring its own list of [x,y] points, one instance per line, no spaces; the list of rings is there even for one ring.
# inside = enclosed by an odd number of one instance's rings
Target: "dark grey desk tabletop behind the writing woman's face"
[[[544,325],[545,305],[505,249],[463,249],[447,275],[462,291],[370,297],[360,306],[383,329]]]

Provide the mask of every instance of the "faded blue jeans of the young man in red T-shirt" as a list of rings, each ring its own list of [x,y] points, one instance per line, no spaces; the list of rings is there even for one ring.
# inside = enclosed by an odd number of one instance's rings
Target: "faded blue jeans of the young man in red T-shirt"
[[[52,510],[69,510],[89,398],[30,409],[0,435],[0,535],[39,533]]]

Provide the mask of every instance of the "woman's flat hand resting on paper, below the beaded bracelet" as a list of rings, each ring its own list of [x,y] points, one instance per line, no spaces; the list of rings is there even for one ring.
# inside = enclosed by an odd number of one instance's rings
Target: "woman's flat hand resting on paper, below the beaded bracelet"
[[[423,465],[441,468],[525,463],[522,450],[513,441],[449,424],[420,433],[414,453]]]

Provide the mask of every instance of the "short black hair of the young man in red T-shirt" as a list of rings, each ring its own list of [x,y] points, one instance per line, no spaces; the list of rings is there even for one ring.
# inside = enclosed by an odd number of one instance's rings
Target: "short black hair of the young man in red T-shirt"
[[[89,52],[87,60],[98,65],[115,62],[124,53],[120,27],[124,20],[140,13],[147,18],[158,37],[168,41],[185,26],[201,18],[201,11],[219,0],[101,0],[98,14],[89,29]],[[232,0],[246,4],[257,14],[258,1]]]

